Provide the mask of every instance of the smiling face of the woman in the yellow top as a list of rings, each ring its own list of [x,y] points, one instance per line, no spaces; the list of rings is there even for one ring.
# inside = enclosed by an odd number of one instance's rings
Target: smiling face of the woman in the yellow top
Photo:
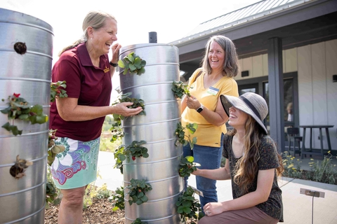
[[[221,48],[221,46],[216,43],[216,41],[212,41],[209,45],[209,65],[212,70],[223,70],[223,64],[225,63],[225,50]]]

